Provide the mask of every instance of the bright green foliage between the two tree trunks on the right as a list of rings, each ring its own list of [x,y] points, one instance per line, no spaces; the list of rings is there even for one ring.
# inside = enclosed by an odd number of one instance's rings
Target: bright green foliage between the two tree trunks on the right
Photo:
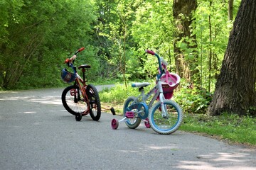
[[[234,1],[234,6],[239,4],[240,1]],[[228,21],[227,9],[228,3],[225,1],[212,1],[212,4],[209,1],[200,1],[193,13],[191,33],[196,35],[198,47],[196,50],[198,52],[198,63],[196,63],[198,67],[194,69],[200,70],[200,86],[210,92],[214,90],[213,85],[220,72],[229,33],[233,26],[233,21]],[[236,14],[238,8],[234,9]],[[188,57],[188,59],[190,58]]]

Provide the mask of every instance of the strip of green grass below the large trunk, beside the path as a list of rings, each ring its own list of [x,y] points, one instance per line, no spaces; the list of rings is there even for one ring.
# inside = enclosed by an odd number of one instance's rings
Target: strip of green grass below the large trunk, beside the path
[[[180,130],[256,147],[256,118],[223,113],[219,116],[186,114]]]

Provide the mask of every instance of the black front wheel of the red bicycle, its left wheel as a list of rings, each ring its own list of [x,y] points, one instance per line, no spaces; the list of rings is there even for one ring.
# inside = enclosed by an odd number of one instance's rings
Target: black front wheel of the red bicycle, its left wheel
[[[82,114],[87,110],[87,104],[78,86],[68,86],[63,90],[61,101],[64,108],[72,115]]]

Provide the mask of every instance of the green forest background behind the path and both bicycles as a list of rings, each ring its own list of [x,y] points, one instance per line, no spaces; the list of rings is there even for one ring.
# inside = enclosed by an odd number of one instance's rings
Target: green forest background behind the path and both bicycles
[[[0,0],[0,90],[67,86],[60,79],[64,61],[85,47],[76,64],[91,65],[90,82],[124,84],[117,86],[116,95],[105,91],[100,96],[123,103],[128,95],[124,86],[131,94],[130,82],[154,82],[157,61],[145,54],[149,49],[181,76],[174,98],[184,113],[204,115],[239,6],[240,0]],[[255,118],[232,116],[223,122],[235,120],[227,134],[255,144]],[[223,117],[196,119],[202,124],[185,120],[189,130],[195,130],[193,124],[210,132],[206,125],[220,126]],[[240,125],[247,128],[236,136],[234,126]],[[248,127],[252,137],[242,138]]]

